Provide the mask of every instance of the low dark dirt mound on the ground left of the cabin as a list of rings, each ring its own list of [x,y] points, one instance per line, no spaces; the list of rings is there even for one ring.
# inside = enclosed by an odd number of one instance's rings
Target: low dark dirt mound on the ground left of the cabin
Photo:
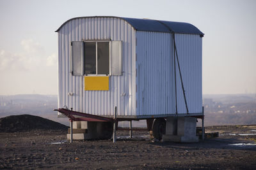
[[[0,118],[1,132],[31,131],[35,129],[67,129],[66,125],[33,115],[13,115]]]

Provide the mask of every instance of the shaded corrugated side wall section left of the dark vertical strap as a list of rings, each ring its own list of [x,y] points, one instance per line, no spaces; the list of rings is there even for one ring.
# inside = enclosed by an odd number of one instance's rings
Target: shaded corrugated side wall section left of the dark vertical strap
[[[137,31],[137,115],[173,113],[172,35]]]

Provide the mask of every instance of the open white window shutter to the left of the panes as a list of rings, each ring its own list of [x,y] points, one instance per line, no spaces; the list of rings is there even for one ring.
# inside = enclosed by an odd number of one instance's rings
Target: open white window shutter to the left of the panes
[[[83,41],[71,42],[71,71],[74,76],[83,76],[83,57],[84,57],[84,45]]]

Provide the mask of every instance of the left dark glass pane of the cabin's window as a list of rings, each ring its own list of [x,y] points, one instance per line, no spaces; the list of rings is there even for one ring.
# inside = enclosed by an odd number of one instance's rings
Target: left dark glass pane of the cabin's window
[[[96,43],[84,43],[84,74],[96,74]]]

